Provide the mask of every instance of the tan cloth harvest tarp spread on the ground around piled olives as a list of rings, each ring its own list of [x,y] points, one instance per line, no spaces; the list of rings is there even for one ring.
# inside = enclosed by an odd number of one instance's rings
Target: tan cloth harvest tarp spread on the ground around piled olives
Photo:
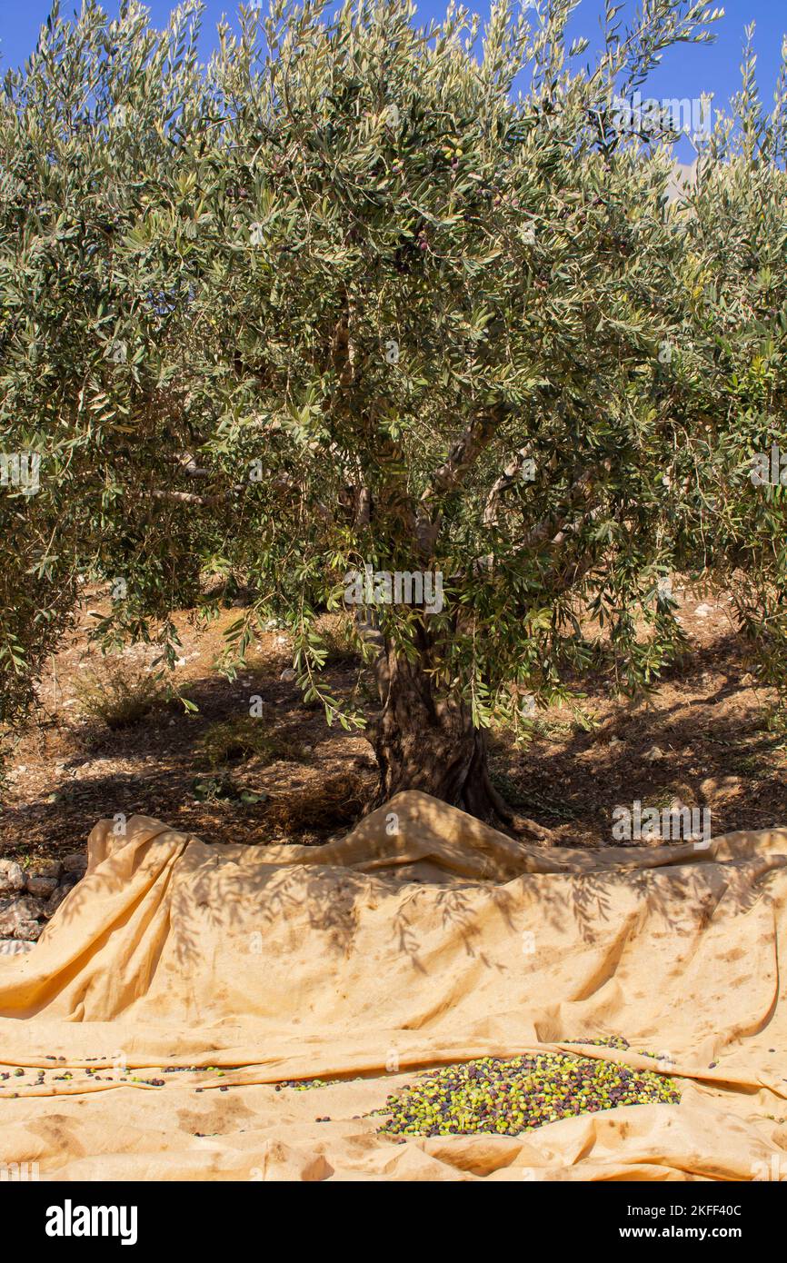
[[[0,1162],[43,1180],[787,1180],[784,829],[568,850],[406,793],[322,847],[135,816],[88,853],[34,950],[0,957]],[[604,1036],[632,1047],[567,1047]],[[543,1050],[670,1074],[681,1103],[404,1143],[369,1116],[419,1067]],[[274,1086],[312,1077],[340,1082]]]

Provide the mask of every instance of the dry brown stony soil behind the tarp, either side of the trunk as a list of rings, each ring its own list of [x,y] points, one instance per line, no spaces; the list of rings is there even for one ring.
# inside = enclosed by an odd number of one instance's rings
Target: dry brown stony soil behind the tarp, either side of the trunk
[[[81,682],[105,669],[86,635],[90,611],[101,609],[93,594],[44,674],[35,725],[11,751],[0,855],[30,863],[73,851],[99,818],[116,813],[155,816],[206,841],[251,844],[316,844],[352,825],[375,786],[374,754],[363,735],[328,729],[323,711],[306,707],[297,685],[280,678],[291,666],[283,633],[261,635],[246,669],[229,682],[215,663],[222,630],[239,610],[227,609],[207,629],[182,613],[177,681],[197,714],[168,702],[112,731],[85,719],[78,697]],[[493,735],[499,787],[558,844],[611,844],[614,807],[635,799],[710,807],[716,836],[787,825],[787,749],[764,724],[771,698],[752,686],[729,602],[682,594],[680,618],[692,653],[647,702],[627,705],[605,681],[590,679],[590,731],[555,707],[538,714],[524,749]],[[133,647],[124,661],[144,668],[152,657],[148,647]],[[347,657],[331,661],[339,695],[356,687],[357,676]],[[258,695],[265,706],[258,722],[270,746],[250,758],[230,751],[222,781],[203,743],[224,731],[216,725],[248,717],[249,698]]]

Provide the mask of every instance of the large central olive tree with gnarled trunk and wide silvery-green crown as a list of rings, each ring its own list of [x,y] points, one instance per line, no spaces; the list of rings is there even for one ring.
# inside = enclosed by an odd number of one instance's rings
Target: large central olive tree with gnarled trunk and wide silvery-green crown
[[[135,3],[54,14],[0,117],[3,446],[42,456],[37,494],[0,496],[6,715],[80,575],[114,584],[106,644],[164,657],[169,613],[239,576],[235,658],[283,618],[304,696],[345,724],[368,716],[326,688],[317,620],[355,615],[381,796],[510,818],[493,721],[527,724],[601,655],[647,687],[682,643],[676,568],[745,565],[773,592],[776,510],[733,404],[754,316],[729,314],[724,388],[710,328],[723,136],[718,192],[677,208],[668,112],[615,107],[715,15],[651,0],[623,29],[610,6],[584,63],[574,8],[498,4],[480,34],[460,10],[419,29],[402,0],[241,6],[206,67],[196,4],[160,34]],[[774,195],[768,254],[783,224]]]

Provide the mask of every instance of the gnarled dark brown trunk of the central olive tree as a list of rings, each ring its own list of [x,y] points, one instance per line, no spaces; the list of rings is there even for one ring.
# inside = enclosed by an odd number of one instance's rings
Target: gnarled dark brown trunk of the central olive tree
[[[461,698],[436,695],[423,658],[409,662],[387,645],[378,686],[378,803],[402,789],[422,789],[480,820],[517,826],[518,817],[490,781],[485,731],[474,727]]]

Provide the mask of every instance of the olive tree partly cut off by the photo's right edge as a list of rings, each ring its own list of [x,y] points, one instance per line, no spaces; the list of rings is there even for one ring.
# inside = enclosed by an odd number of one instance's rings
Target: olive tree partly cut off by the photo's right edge
[[[773,106],[754,77],[702,145],[686,206],[683,356],[670,475],[695,565],[731,596],[757,679],[787,674],[787,38]],[[701,541],[701,552],[697,542]],[[783,725],[783,711],[779,726]]]

